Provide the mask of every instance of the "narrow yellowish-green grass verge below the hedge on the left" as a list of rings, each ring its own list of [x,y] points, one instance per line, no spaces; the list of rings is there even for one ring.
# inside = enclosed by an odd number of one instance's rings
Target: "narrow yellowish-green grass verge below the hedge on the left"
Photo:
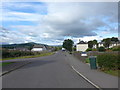
[[[35,58],[35,57],[49,56],[49,55],[53,55],[53,54],[54,54],[54,52],[49,52],[49,53],[43,53],[43,54],[39,54],[39,55],[22,56],[22,57],[11,57],[11,58],[4,58],[4,59],[0,59],[0,60]]]

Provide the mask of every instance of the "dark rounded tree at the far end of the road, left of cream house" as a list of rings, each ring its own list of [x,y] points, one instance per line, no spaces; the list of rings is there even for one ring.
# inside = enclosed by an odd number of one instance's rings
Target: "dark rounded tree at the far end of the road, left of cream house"
[[[73,47],[74,42],[71,39],[66,39],[63,42],[63,48],[65,48],[68,51],[72,51],[72,47]]]

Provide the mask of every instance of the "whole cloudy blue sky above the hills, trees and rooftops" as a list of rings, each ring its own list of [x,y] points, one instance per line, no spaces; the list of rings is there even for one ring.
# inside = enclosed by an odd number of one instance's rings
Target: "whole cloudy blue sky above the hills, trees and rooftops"
[[[3,2],[2,43],[61,45],[118,37],[117,2]]]

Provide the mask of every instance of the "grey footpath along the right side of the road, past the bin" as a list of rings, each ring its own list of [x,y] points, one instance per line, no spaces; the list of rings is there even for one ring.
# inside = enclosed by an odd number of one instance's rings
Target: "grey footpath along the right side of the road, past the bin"
[[[91,70],[89,64],[82,63],[74,56],[66,53],[71,66],[100,88],[118,88],[118,77],[106,74],[99,70]]]

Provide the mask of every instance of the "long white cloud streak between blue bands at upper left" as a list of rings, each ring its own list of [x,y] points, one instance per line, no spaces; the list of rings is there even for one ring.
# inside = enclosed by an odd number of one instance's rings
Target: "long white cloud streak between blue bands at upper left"
[[[36,13],[24,13],[24,12],[15,12],[7,11],[3,13],[3,21],[35,21],[37,22],[39,18],[42,18],[42,15]]]

